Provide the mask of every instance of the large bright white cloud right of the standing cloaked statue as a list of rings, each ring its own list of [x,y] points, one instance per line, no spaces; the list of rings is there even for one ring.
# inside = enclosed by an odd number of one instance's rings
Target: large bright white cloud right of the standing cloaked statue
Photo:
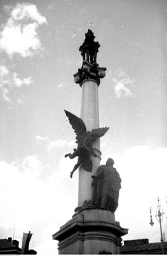
[[[111,152],[111,148],[107,150]],[[159,234],[155,236],[159,227],[149,225],[149,207],[152,205],[155,216],[157,196],[161,199],[162,206],[166,205],[166,154],[167,148],[153,149],[139,145],[127,148],[122,154],[106,155],[103,159],[105,163],[108,157],[113,157],[115,168],[122,179],[119,206],[115,215],[122,227],[129,228],[129,234],[123,237],[125,240],[144,237],[152,241],[159,240]]]

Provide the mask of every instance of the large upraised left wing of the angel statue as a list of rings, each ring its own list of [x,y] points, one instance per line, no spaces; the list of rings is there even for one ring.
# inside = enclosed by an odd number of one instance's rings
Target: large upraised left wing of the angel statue
[[[81,118],[67,110],[65,110],[65,115],[67,115],[68,120],[76,133],[76,143],[80,144],[83,141],[83,136],[86,135],[86,125]]]

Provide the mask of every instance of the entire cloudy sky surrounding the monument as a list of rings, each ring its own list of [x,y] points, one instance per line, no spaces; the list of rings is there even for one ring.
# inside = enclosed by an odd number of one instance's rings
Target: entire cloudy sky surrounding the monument
[[[0,238],[33,232],[30,248],[58,254],[52,240],[77,206],[75,134],[63,109],[79,116],[79,46],[91,29],[106,67],[99,86],[102,161],[122,178],[116,221],[123,240],[160,241],[157,197],[166,193],[167,3],[154,0],[0,2]],[[149,225],[150,207],[154,226]]]

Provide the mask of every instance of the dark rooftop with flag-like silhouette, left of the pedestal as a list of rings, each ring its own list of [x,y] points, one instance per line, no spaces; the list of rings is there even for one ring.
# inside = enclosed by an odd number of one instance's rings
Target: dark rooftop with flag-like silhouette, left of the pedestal
[[[19,241],[8,239],[0,239],[0,254],[36,254],[35,250],[29,250],[29,241],[32,234],[23,233],[22,248],[19,248]]]

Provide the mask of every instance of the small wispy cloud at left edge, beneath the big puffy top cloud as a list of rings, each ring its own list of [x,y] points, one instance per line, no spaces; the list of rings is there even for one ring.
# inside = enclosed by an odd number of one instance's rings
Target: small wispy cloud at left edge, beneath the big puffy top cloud
[[[3,94],[4,100],[11,101],[8,97],[9,90],[6,87],[21,87],[31,83],[33,83],[33,79],[31,77],[20,79],[16,72],[10,72],[6,66],[0,65],[0,91]]]

